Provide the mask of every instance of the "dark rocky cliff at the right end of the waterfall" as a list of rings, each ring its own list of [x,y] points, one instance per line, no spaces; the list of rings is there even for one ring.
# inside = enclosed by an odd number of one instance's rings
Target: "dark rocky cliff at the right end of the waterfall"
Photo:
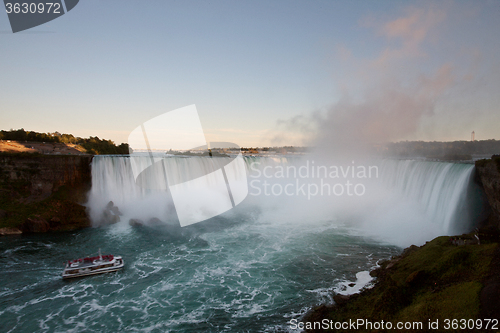
[[[492,210],[488,225],[500,229],[500,156],[477,161],[476,172]]]

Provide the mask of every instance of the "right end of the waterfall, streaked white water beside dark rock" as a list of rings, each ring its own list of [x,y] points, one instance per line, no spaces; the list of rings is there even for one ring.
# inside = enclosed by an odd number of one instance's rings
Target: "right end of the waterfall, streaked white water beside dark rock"
[[[382,182],[402,199],[418,204],[443,234],[470,231],[483,210],[474,165],[417,160],[384,160]]]

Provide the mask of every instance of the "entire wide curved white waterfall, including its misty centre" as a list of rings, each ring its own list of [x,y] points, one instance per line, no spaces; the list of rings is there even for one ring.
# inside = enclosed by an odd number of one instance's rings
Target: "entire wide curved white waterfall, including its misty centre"
[[[352,225],[366,232],[368,236],[379,237],[396,245],[423,243],[438,235],[468,232],[477,223],[481,214],[483,197],[481,189],[474,183],[474,166],[472,164],[426,162],[415,160],[376,160],[377,177],[356,179],[352,164],[340,166],[337,178],[332,173],[321,173],[317,164],[308,157],[244,157],[250,186],[249,195],[234,210],[255,207],[263,218],[283,223],[315,223],[316,221],[338,221]],[[147,157],[144,157],[147,163]],[[176,210],[172,196],[166,190],[166,182],[177,184],[188,179],[212,173],[223,165],[229,165],[231,158],[179,157],[163,159],[161,168],[153,168],[154,177],[137,179],[134,177],[133,162],[128,156],[95,156],[92,162],[92,188],[89,193],[88,206],[94,224],[102,220],[103,210],[110,201],[123,214],[122,222],[129,219],[157,218],[166,223],[176,220]],[[135,162],[137,163],[137,161]],[[139,163],[140,162],[139,160]],[[307,166],[311,173],[307,179],[295,179],[297,170]],[[281,169],[277,169],[281,168]],[[314,168],[317,168],[315,171]],[[338,168],[337,168],[338,169]],[[229,170],[229,169],[228,169]],[[276,177],[275,170],[289,172],[284,177]],[[305,169],[304,169],[305,170]],[[331,172],[332,166],[328,166]],[[231,170],[229,170],[231,171]],[[351,172],[352,171],[352,172]],[[237,173],[238,170],[229,172]],[[241,172],[241,170],[240,170]],[[252,173],[253,172],[253,173]],[[315,173],[316,172],[316,173]],[[255,176],[255,173],[259,177]],[[271,175],[272,177],[265,177]],[[318,177],[323,175],[324,177]],[[343,176],[342,176],[343,175]],[[314,177],[315,176],[315,177]],[[326,177],[326,178],[325,178]],[[279,178],[279,179],[277,179]],[[325,179],[324,179],[325,178]],[[323,189],[330,186],[334,191],[344,184],[343,178],[349,178],[354,185],[360,183],[362,194],[335,195],[321,192],[314,197],[285,195],[284,187],[302,186],[305,189]],[[274,192],[256,195],[253,180],[269,181],[268,189]],[[211,205],[226,205],[221,193],[227,189],[213,186],[210,178],[203,179],[210,192],[193,192],[191,200],[212,198]],[[300,183],[301,182],[301,183]],[[262,183],[261,183],[262,184]],[[316,184],[312,186],[311,184]],[[327,186],[327,184],[329,184]],[[278,188],[278,185],[281,188]],[[310,188],[308,188],[310,186]],[[281,190],[280,191],[278,191]],[[253,191],[253,192],[252,192]],[[361,192],[361,191],[358,191]],[[366,192],[366,193],[365,193]],[[288,192],[287,192],[288,193]],[[298,194],[299,191],[297,191]],[[293,192],[295,194],[295,192]],[[226,200],[227,201],[227,200]],[[236,206],[238,205],[236,202]],[[234,207],[234,205],[233,205]],[[220,207],[219,207],[220,208]],[[227,208],[231,209],[231,206]],[[213,215],[215,216],[215,215]]]

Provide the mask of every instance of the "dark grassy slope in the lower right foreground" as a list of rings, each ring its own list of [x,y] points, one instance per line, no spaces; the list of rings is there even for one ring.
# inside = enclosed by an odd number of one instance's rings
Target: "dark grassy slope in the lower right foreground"
[[[334,307],[318,307],[304,321],[357,318],[396,323],[475,319],[482,281],[497,243],[455,246],[449,237],[434,239],[373,272],[377,285]],[[446,330],[451,332],[453,330]]]

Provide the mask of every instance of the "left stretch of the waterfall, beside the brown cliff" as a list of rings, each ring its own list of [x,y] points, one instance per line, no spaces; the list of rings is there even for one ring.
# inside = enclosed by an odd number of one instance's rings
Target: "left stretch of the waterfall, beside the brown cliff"
[[[246,175],[241,174],[232,158],[168,157],[155,160],[156,163],[151,165],[149,156],[94,157],[88,202],[94,224],[101,222],[102,212],[110,201],[118,207],[126,221],[130,218],[142,221],[156,218],[178,224],[178,214],[182,208],[179,204],[193,203],[193,209],[187,207],[184,211],[189,211],[195,215],[194,219],[202,221],[206,219],[203,214],[208,217],[217,214],[193,210],[224,212],[231,209],[232,204],[244,199],[244,195],[239,195],[241,191],[238,186],[241,184],[238,179],[246,180]],[[225,172],[217,173],[222,168]],[[183,187],[181,191],[178,190],[180,187]],[[228,195],[228,187],[232,190],[232,196]],[[178,195],[176,207],[172,198],[175,189]],[[179,196],[186,197],[179,199]],[[195,207],[201,200],[204,200],[205,205]]]

